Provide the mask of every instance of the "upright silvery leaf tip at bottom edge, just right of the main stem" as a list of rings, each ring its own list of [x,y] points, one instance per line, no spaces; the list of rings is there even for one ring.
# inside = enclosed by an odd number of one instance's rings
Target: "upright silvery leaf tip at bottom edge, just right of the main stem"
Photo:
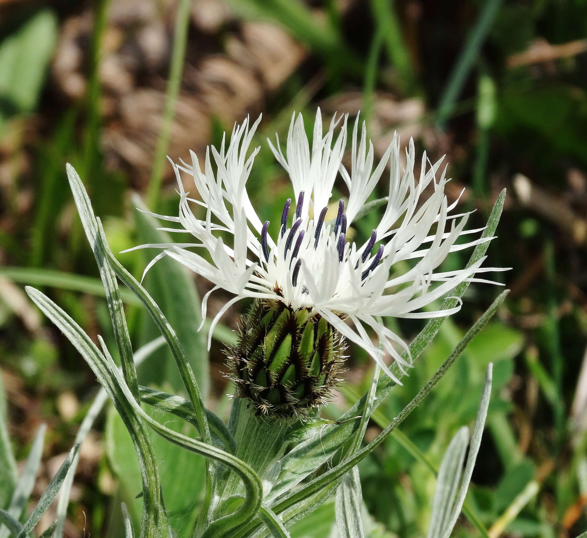
[[[336,489],[336,525],[340,538],[363,538],[361,505],[363,495],[359,470],[353,467]]]

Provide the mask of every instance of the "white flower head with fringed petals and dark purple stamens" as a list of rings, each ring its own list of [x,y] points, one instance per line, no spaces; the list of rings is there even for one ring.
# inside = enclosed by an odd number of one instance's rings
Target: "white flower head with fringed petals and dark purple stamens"
[[[383,349],[400,368],[410,366],[394,347],[395,343],[407,350],[406,344],[377,322],[376,317],[431,318],[457,312],[460,301],[450,310],[421,312],[421,309],[446,296],[464,280],[487,282],[474,278],[477,273],[500,269],[481,268],[483,258],[468,269],[434,271],[448,253],[492,238],[456,244],[461,235],[482,229],[465,231],[468,213],[451,214],[458,200],[449,205],[444,194],[448,181],[446,167],[437,177],[442,159],[428,165],[424,153],[420,175],[416,178],[413,140],[406,150],[407,164],[402,167],[399,138],[394,136],[373,170],[373,144],[367,140],[365,123],[358,136],[357,120],[352,133],[352,164],[347,170],[342,164],[347,117],[333,118],[324,134],[319,110],[312,144],[306,137],[301,114],[292,117],[285,154],[279,139],[275,146],[269,142],[275,158],[288,172],[294,190],[293,197],[285,204],[278,236],[269,236],[269,222],[261,221],[247,192],[247,180],[259,148],[249,157],[247,153],[260,120],[259,117],[250,127],[248,119],[235,126],[228,147],[224,138],[220,149],[208,147],[204,172],[193,152],[191,166],[183,161],[181,165],[171,163],[181,195],[179,216],[153,215],[181,224],[183,229],[173,231],[188,232],[197,242],[136,248],[164,249],[149,267],[167,255],[214,284],[204,296],[203,317],[210,293],[220,288],[234,293],[235,297],[212,321],[208,346],[212,329],[233,303],[245,297],[274,299],[294,310],[307,308],[318,313],[350,341],[365,348],[393,377],[383,363],[383,351],[373,344],[367,328],[375,331]],[[347,242],[349,226],[387,167],[389,200],[379,225],[365,243]],[[193,176],[198,198],[191,198],[185,192],[180,171]],[[339,174],[348,188],[348,201],[346,204],[342,199],[338,201],[336,219],[325,222],[332,187]],[[429,186],[433,192],[421,200]],[[205,209],[204,219],[194,216],[191,203]],[[232,236],[231,246],[224,243],[219,232]],[[209,257],[189,250],[193,247],[205,248]],[[400,271],[397,264],[404,260],[417,261],[408,270]],[[405,263],[401,266],[409,267]]]

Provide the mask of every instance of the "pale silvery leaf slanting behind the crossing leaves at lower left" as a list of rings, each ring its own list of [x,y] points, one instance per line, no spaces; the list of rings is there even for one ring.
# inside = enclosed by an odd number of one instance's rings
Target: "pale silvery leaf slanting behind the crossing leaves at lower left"
[[[137,349],[137,351],[134,353],[134,363],[136,366],[149,357],[149,355],[153,353],[154,350],[162,346],[164,343],[165,339],[163,336],[160,336]],[[100,411],[102,411],[102,408],[104,407],[107,399],[108,395],[106,394],[106,391],[101,388],[96,394],[92,405],[90,405],[86,416],[83,418],[82,424],[80,424],[80,427],[77,430],[75,444],[79,444],[80,446],[83,445],[87,434],[89,433],[90,429],[92,429],[92,425],[94,424],[96,417],[100,414]],[[55,532],[53,532],[53,538],[62,538],[63,536],[63,526],[65,526],[65,518],[68,512],[69,495],[71,493],[78,462],[79,456],[76,455],[59,492],[59,500],[57,504],[57,525],[55,526]]]

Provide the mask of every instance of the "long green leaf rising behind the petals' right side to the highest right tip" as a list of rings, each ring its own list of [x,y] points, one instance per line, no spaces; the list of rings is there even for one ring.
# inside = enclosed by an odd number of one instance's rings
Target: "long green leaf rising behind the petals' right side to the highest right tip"
[[[504,200],[505,189],[501,191],[501,194],[495,201],[482,237],[485,238],[494,235],[495,229],[497,228],[497,224],[500,220],[501,211],[504,206]],[[488,246],[489,243],[487,242],[480,243],[479,245],[475,246],[473,254],[467,263],[467,267],[470,267],[474,263],[478,262],[478,260],[484,256]],[[444,300],[441,306],[441,310],[450,309],[456,306],[458,298],[463,296],[463,293],[467,289],[468,285],[468,282],[462,282],[460,285],[458,285],[453,290],[453,292],[450,293],[450,297]],[[500,297],[505,298],[503,294],[500,295]],[[490,307],[490,309],[491,308],[492,307]],[[446,319],[447,316],[431,319],[426,324],[426,326],[424,326],[424,329],[421,330],[416,338],[412,341],[410,344],[410,354],[413,361],[415,361],[420,356],[424,348],[429,344],[434,336],[436,336],[438,330],[440,330],[440,326]],[[481,329],[477,323],[473,327],[476,328],[476,331]],[[476,334],[476,332],[474,334]],[[471,338],[473,336],[471,336]],[[461,341],[461,343],[463,343],[463,341]],[[404,354],[403,358],[407,360],[407,354]],[[399,368],[392,367],[392,372],[398,378],[401,378],[403,375]],[[384,400],[384,398],[387,397],[394,386],[394,381],[387,375],[383,375],[380,378],[379,382],[377,383],[373,410],[375,410],[377,406]],[[353,405],[345,414],[343,414],[342,417],[340,417],[342,424],[326,426],[323,431],[321,431],[319,436],[302,442],[282,459],[281,476],[271,493],[273,498],[290,490],[293,486],[305,479],[310,473],[319,468],[319,466],[323,465],[323,463],[328,461],[328,459],[333,454],[335,454],[340,446],[349,438],[350,435],[352,435],[352,432],[356,431],[356,428],[359,427],[355,421],[343,421],[360,415],[361,410],[365,408],[365,401],[366,396],[363,396],[359,401],[356,402],[355,405]]]

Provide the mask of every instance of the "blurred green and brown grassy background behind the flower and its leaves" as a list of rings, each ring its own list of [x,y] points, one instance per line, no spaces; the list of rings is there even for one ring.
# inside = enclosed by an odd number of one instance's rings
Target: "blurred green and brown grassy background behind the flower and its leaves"
[[[79,171],[119,252],[166,235],[134,209],[177,211],[166,154],[202,155],[235,121],[262,113],[249,192],[259,213],[276,222],[291,193],[265,137],[277,131],[283,140],[293,111],[312,115],[320,106],[326,116],[361,110],[379,155],[394,131],[404,143],[413,137],[432,161],[446,154],[454,178],[448,197],[454,201],[467,187],[461,206],[476,209],[473,226],[483,225],[508,188],[488,254],[490,265],[512,268],[498,275],[510,297],[425,404],[360,466],[370,536],[423,536],[434,471],[452,435],[474,418],[490,361],[494,394],[470,513],[491,538],[583,532],[586,52],[585,0],[0,1],[0,396],[8,401],[0,398],[0,437],[9,435],[21,461],[36,429],[48,423],[34,495],[65,459],[96,381],[22,285],[41,287],[93,337],[113,338],[65,163]],[[345,195],[343,185],[336,194]],[[368,236],[376,218],[368,215],[353,233]],[[151,255],[119,259],[140,276]],[[465,256],[455,253],[446,270]],[[196,330],[198,295],[208,283],[164,259],[146,285],[190,354],[211,407],[226,417],[231,388],[222,347],[234,339],[239,311],[224,317],[208,362]],[[396,416],[495,295],[492,286],[470,287],[461,312],[376,412],[368,436]],[[123,299],[136,346],[156,337],[136,300]],[[208,312],[226,299],[212,296]],[[410,339],[419,327],[393,328]],[[370,380],[365,353],[350,351],[348,381],[325,410],[332,418]],[[164,347],[140,375],[143,384],[181,388]],[[179,521],[198,503],[201,461],[154,442],[166,505]],[[120,500],[137,517],[139,484],[130,439],[109,412],[83,445],[65,536],[120,536]],[[0,506],[6,491],[0,485]],[[54,513],[45,518],[47,526]],[[292,536],[329,536],[332,522],[333,503],[326,503]],[[463,519],[455,536],[481,534]]]

